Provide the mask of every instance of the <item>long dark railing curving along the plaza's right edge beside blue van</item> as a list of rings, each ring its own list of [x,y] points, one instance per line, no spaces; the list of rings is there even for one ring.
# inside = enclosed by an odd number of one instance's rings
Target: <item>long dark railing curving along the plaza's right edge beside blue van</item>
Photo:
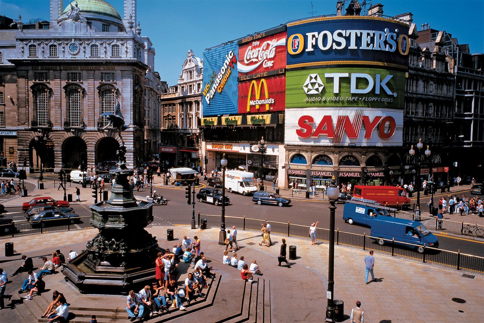
[[[207,225],[211,227],[220,226],[220,215],[200,215],[198,214],[198,223],[200,218],[207,219]],[[435,218],[431,218],[435,221]],[[227,228],[236,226],[238,229],[249,231],[260,231],[264,220],[252,219],[247,217],[225,216],[225,225]],[[459,222],[456,222],[459,223]],[[460,224],[460,223],[459,223]],[[288,237],[298,237],[310,239],[309,227],[289,222],[271,221],[271,234],[279,234]],[[317,239],[329,242],[329,230],[318,228],[316,231]],[[398,242],[397,240],[388,240],[378,237],[372,237],[366,234],[356,234],[344,231],[335,231],[336,245],[351,246],[362,248],[363,250],[371,249],[386,253],[393,257],[407,258],[425,263],[434,263],[445,267],[451,267],[458,270],[468,270],[472,272],[484,273],[484,257],[469,255],[458,251],[442,250],[429,246],[418,246],[408,243]],[[419,252],[421,251],[421,252]]]

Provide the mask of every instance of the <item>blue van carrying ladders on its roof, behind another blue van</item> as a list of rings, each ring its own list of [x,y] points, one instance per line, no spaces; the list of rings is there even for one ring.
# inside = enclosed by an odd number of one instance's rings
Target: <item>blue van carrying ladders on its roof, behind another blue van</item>
[[[393,211],[396,209],[383,206],[373,200],[352,198],[345,203],[343,220],[349,224],[359,223],[370,226],[372,220],[378,215],[392,216],[390,213]]]

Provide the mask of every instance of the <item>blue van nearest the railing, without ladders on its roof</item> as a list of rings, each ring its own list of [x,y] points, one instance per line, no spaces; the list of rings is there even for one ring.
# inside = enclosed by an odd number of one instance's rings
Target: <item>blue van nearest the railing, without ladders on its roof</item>
[[[390,216],[378,216],[371,221],[371,236],[377,238],[378,245],[383,246],[385,240],[392,240],[404,244],[417,245],[418,252],[423,252],[423,244],[437,248],[439,240],[429,232],[422,223]],[[378,239],[380,238],[380,239]]]

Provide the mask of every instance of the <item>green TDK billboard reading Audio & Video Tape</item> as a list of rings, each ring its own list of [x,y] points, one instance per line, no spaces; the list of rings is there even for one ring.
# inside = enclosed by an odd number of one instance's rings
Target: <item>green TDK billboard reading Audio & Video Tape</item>
[[[373,67],[288,71],[286,108],[404,107],[406,73]]]

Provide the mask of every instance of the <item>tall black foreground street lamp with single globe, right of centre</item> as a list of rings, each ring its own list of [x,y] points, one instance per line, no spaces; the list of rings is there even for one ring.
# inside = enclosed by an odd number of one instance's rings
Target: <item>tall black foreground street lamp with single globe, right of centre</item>
[[[335,203],[338,200],[339,189],[334,183],[334,175],[330,186],[326,189],[328,199],[330,201],[330,250],[328,255],[328,292],[326,298],[328,299],[328,306],[326,307],[325,322],[334,322],[334,304],[333,304],[333,287],[334,287],[334,211],[336,210]]]

